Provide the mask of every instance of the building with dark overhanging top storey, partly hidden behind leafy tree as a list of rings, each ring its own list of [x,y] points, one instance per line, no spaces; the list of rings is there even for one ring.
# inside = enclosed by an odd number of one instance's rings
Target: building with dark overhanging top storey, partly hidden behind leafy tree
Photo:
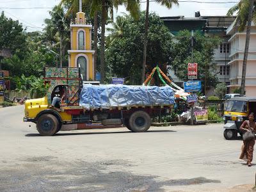
[[[200,16],[199,12],[195,13],[195,17],[187,18],[184,16],[177,17],[161,17],[164,24],[173,35],[173,41],[176,42],[175,35],[180,30],[188,29],[189,31],[200,31],[205,36],[218,36],[221,38],[221,44],[214,49],[215,75],[220,83],[230,84],[230,66],[228,65],[230,58],[230,44],[228,39],[230,36],[226,34],[227,28],[236,19],[235,16]],[[200,63],[198,63],[200,65]],[[179,77],[175,76],[175,71],[168,70],[168,76],[179,86],[183,86],[183,82]],[[204,81],[204,79],[200,79]],[[227,89],[229,92],[229,89]],[[208,84],[206,96],[214,95],[214,88]]]

